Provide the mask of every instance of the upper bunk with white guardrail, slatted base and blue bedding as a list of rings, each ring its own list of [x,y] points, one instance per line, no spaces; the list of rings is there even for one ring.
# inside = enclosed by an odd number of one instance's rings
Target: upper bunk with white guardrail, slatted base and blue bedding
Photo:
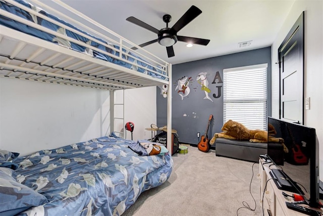
[[[56,16],[22,0],[0,0],[0,76],[105,90],[169,84],[166,61],[61,1],[53,2],[104,33],[40,1],[30,2]]]

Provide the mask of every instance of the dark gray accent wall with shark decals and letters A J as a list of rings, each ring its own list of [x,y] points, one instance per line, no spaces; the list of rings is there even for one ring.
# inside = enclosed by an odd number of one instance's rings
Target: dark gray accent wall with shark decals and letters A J
[[[197,145],[200,141],[197,133],[200,133],[200,136],[205,135],[210,115],[213,115],[213,119],[210,121],[207,136],[211,139],[214,133],[221,132],[223,69],[265,63],[268,64],[267,115],[271,116],[271,47],[173,65],[172,128],[177,130],[180,143]],[[205,84],[205,73],[208,86],[202,90],[201,83]],[[184,81],[179,82],[183,77]],[[185,77],[191,78],[185,82]],[[185,88],[186,83],[188,88]],[[180,92],[183,89],[185,91]],[[167,98],[163,97],[161,88],[157,87],[156,92],[157,126],[162,127],[167,125]],[[184,92],[186,94],[183,94]]]

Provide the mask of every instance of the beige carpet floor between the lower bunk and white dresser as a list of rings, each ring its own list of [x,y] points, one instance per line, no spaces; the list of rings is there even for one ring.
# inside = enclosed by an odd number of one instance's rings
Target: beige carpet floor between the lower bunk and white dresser
[[[205,153],[192,146],[188,154],[175,154],[173,160],[170,179],[143,192],[123,216],[262,215],[258,163],[216,156],[215,150]],[[251,194],[255,201],[249,192],[253,164]],[[239,209],[243,202],[255,211]]]

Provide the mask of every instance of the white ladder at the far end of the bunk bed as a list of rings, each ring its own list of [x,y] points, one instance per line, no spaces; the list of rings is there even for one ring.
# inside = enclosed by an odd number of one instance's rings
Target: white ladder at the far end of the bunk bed
[[[111,94],[111,131],[126,139],[125,132],[125,90],[115,90]]]

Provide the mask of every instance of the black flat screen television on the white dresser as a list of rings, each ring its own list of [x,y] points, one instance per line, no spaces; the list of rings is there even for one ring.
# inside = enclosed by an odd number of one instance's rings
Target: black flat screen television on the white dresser
[[[276,185],[286,191],[304,195],[305,201],[311,207],[317,207],[319,203],[319,158],[318,139],[315,129],[304,125],[283,121],[268,117],[269,124],[276,130],[275,133],[268,131],[268,136],[283,138],[288,152],[280,148],[281,153],[273,151],[275,145],[268,143],[268,156],[276,167],[271,175]],[[276,152],[276,154],[274,154]]]

